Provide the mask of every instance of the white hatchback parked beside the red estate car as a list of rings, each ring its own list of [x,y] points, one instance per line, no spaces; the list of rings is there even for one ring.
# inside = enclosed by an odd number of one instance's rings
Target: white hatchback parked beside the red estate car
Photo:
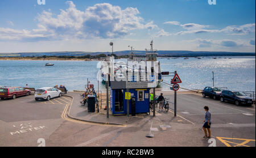
[[[36,89],[35,100],[46,99],[50,100],[54,97],[61,97],[62,93],[59,89],[53,87],[43,87]]]

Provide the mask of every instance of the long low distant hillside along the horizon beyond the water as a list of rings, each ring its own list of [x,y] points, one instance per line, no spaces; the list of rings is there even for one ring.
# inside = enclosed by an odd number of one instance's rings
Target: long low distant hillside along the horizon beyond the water
[[[84,55],[98,55],[98,54],[110,54],[110,52],[39,52],[39,53],[0,53],[0,57],[39,57],[43,55],[47,56],[84,56]],[[118,56],[129,55],[129,50],[117,51],[114,52]],[[134,54],[136,55],[146,55],[144,50],[135,50]],[[251,53],[240,53],[240,52],[194,52],[186,50],[159,50],[159,57],[209,57],[209,56],[255,56],[255,52]]]

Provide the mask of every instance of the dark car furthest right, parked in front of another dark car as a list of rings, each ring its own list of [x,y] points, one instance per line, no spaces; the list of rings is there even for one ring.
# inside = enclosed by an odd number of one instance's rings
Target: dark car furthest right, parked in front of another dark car
[[[221,102],[228,101],[236,105],[252,105],[253,99],[250,96],[247,96],[243,92],[239,91],[222,91],[221,92]]]

